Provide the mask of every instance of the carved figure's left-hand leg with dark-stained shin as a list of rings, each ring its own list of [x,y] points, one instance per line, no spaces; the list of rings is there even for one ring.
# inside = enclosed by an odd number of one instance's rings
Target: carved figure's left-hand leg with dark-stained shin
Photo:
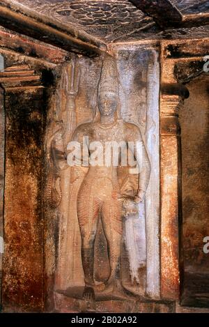
[[[77,198],[77,216],[82,236],[82,264],[86,287],[93,287],[94,243],[100,204],[89,190],[82,188]]]

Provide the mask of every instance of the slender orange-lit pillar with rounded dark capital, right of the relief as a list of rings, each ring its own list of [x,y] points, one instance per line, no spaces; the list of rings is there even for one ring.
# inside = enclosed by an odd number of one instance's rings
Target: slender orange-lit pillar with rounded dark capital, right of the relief
[[[160,104],[161,296],[180,294],[179,223],[181,220],[181,149],[178,109],[189,96],[185,86],[162,87]]]

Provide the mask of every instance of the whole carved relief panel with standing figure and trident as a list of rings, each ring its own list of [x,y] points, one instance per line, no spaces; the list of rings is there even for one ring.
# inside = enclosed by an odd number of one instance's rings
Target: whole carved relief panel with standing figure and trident
[[[72,298],[160,296],[157,52],[136,46],[113,53],[73,57],[52,98],[45,246],[48,292],[54,290],[58,310]],[[81,144],[82,155],[69,142]],[[110,165],[99,162],[108,142],[120,144],[118,165],[114,154]],[[123,148],[129,142],[133,148]],[[123,165],[124,151],[135,166]]]

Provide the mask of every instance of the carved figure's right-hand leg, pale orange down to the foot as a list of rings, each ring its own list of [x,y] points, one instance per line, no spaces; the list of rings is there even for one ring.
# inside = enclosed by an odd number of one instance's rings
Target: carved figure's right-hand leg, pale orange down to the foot
[[[118,199],[104,201],[101,214],[111,268],[107,280],[107,285],[109,285],[114,282],[121,282],[121,238],[123,232],[121,201]]]

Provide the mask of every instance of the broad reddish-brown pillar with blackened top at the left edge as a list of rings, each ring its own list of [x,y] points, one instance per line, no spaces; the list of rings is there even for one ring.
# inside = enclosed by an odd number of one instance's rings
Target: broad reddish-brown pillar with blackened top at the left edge
[[[42,310],[42,137],[44,88],[28,65],[0,73],[5,92],[6,161],[2,306]]]

